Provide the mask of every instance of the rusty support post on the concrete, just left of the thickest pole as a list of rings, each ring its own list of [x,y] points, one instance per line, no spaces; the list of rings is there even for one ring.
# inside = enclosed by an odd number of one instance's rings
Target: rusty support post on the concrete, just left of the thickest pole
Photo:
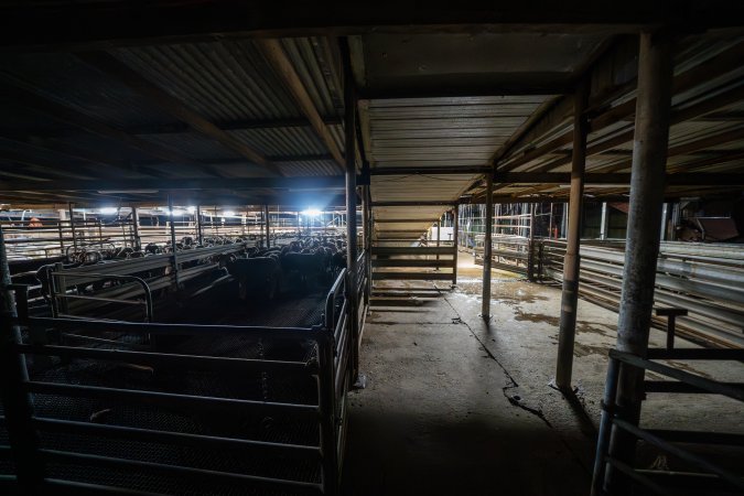
[[[576,311],[579,305],[579,269],[581,216],[584,195],[584,169],[586,165],[585,116],[589,101],[589,85],[583,82],[573,97],[573,155],[571,164],[571,193],[569,197],[569,234],[563,260],[563,291],[561,293],[561,320],[558,334],[558,366],[556,385],[563,390],[571,389],[573,369],[573,342],[576,334]]]

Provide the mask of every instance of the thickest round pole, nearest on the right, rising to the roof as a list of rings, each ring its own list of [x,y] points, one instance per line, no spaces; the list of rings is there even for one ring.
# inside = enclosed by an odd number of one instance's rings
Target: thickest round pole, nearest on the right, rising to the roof
[[[654,305],[654,284],[659,256],[659,225],[664,203],[669,112],[673,71],[672,42],[667,36],[640,34],[638,91],[630,171],[628,234],[623,270],[623,290],[617,323],[617,349],[645,356]],[[622,367],[617,406],[626,420],[637,423],[643,397],[644,371]],[[615,430],[610,454],[632,462],[635,439]],[[624,481],[608,473],[613,493],[626,494]]]

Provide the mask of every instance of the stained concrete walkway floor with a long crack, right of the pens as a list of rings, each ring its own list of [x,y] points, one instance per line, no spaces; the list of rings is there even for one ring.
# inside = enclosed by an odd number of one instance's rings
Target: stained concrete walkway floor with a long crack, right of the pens
[[[550,387],[560,289],[494,270],[493,317],[484,322],[482,268],[461,252],[459,271],[453,291],[425,282],[377,289],[363,339],[367,388],[349,400],[344,494],[589,494],[617,314],[580,302],[568,401]],[[651,332],[651,346],[664,339]],[[689,364],[681,365],[744,380],[741,364]],[[641,422],[744,433],[741,403],[708,398],[651,397]]]

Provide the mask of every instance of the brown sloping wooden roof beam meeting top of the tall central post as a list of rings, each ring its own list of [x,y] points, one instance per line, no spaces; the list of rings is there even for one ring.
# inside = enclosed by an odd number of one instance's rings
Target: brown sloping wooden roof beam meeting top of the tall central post
[[[323,118],[315,108],[315,104],[308,93],[308,89],[305,89],[304,85],[302,84],[300,75],[294,69],[292,61],[290,61],[287,56],[287,53],[284,53],[281,42],[277,39],[265,39],[258,40],[257,44],[261,47],[263,55],[268,58],[277,75],[284,83],[287,89],[289,89],[296,100],[298,105],[302,109],[302,112],[310,120],[310,123],[312,125],[313,129],[315,129],[317,136],[325,143],[325,147],[333,155],[333,159],[336,161],[339,169],[345,171],[346,162],[344,160],[344,155],[338,149],[336,141],[331,136],[331,132],[325,126],[325,122],[323,122]]]

